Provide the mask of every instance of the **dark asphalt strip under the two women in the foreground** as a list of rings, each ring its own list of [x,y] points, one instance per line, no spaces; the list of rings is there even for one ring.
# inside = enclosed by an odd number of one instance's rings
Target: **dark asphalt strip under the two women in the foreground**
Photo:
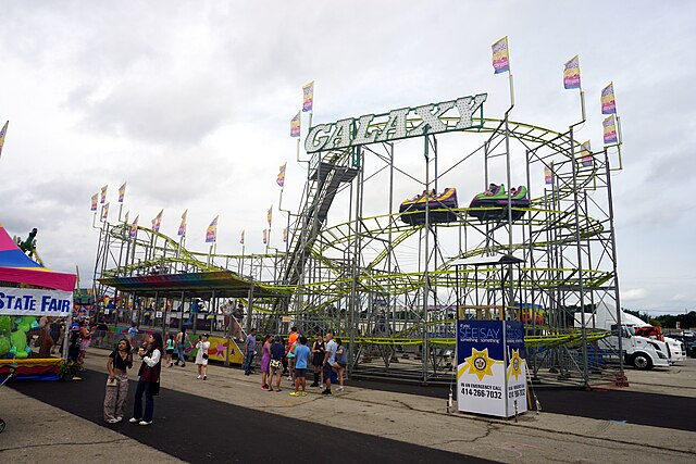
[[[107,375],[87,371],[72,383],[14,383],[12,388],[89,422],[190,463],[273,460],[333,463],[488,463],[480,457],[440,451],[378,436],[333,427],[340,421],[331,409],[308,422],[210,400],[163,388],[156,397],[150,426],[105,424],[102,418]],[[202,381],[201,381],[202,383]],[[126,417],[130,417],[136,383],[130,380]],[[268,392],[269,396],[287,396]],[[127,450],[124,450],[127,453]]]

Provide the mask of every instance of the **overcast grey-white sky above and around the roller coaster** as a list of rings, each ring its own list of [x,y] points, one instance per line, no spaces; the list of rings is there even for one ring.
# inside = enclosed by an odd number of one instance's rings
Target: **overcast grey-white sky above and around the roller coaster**
[[[204,250],[220,214],[219,252],[239,253],[243,229],[246,251],[261,252],[278,165],[288,161],[286,206],[298,208],[307,176],[288,137],[302,85],[316,83],[314,123],[481,92],[486,116],[502,117],[508,84],[493,74],[490,45],[507,35],[513,120],[559,131],[577,121],[561,74],[580,54],[579,138],[601,147],[599,91],[614,83],[623,305],[695,309],[696,4],[485,3],[3,2],[0,222],[22,236],[38,227],[49,267],[77,264],[88,280],[90,197],[108,184],[115,220],[127,181],[124,212],[141,224],[164,209],[162,231],[175,236],[188,209],[188,248]],[[458,187],[463,198],[481,190]]]

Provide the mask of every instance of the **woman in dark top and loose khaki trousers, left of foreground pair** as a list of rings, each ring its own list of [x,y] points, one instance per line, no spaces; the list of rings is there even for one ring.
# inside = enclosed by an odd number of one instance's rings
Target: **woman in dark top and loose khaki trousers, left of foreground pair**
[[[116,343],[116,349],[109,354],[107,369],[107,394],[104,396],[104,421],[115,424],[123,421],[123,406],[128,397],[128,374],[126,369],[133,367],[133,353],[130,343],[122,338]]]

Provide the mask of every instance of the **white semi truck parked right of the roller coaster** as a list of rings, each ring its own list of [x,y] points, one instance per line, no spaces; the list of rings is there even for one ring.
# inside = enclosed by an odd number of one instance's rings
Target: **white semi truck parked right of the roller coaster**
[[[599,340],[599,342],[605,343],[610,351],[618,352],[619,337],[621,337],[621,350],[624,362],[637,369],[650,369],[656,366],[670,366],[671,363],[667,343],[660,340],[652,340],[650,338],[636,336],[635,330],[633,329],[634,324],[631,324],[630,322],[626,324],[624,315],[630,316],[630,314],[622,312],[621,329],[619,329],[616,310],[607,306],[606,304],[599,304],[594,314],[585,313],[585,327],[611,330],[611,335],[609,337]],[[575,313],[574,319],[575,327],[582,328],[583,314]],[[631,319],[627,318],[627,321]]]

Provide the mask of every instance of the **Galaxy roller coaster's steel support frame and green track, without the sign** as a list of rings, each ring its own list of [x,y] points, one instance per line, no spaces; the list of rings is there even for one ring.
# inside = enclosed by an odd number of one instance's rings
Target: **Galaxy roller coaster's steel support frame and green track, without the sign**
[[[422,123],[408,120],[407,128]],[[622,366],[598,352],[607,333],[574,328],[573,313],[620,308],[611,176],[621,158],[584,151],[573,130],[482,113],[478,125],[449,134],[312,153],[286,249],[272,253],[191,252],[152,229],[137,226],[132,238],[130,224],[101,222],[97,294],[127,293],[120,278],[225,271],[247,293],[210,296],[244,300],[247,328],[333,329],[350,347],[352,375],[420,383],[451,380],[458,317],[524,321],[533,380],[602,383]],[[492,183],[524,186],[530,200],[520,206],[511,193],[498,206],[426,201],[398,211],[413,192],[447,186],[473,197]],[[127,309],[134,299],[121,301]],[[172,305],[153,325],[165,325]]]

